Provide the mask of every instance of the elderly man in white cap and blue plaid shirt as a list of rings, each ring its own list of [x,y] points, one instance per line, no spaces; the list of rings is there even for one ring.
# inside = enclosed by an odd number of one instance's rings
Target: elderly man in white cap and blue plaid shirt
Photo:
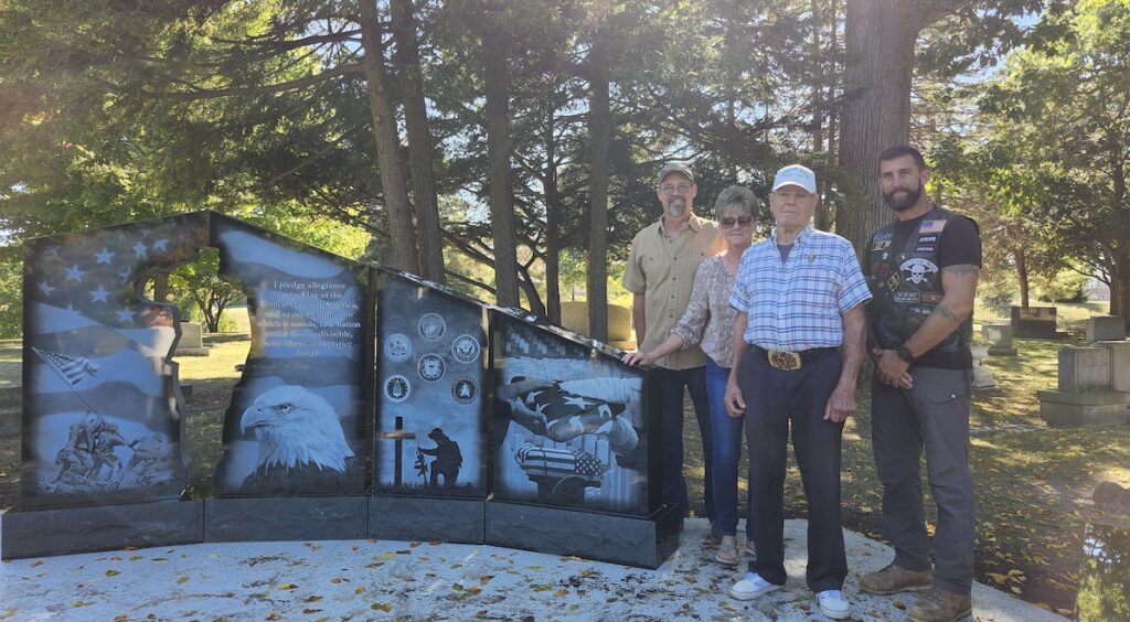
[[[840,443],[855,411],[871,298],[846,239],[812,229],[816,175],[777,172],[770,194],[776,228],[741,257],[730,305],[738,310],[725,403],[746,418],[750,523],[757,559],[730,588],[739,601],[785,582],[783,487],[789,430],[808,498],[808,587],[820,612],[850,616],[840,527]]]

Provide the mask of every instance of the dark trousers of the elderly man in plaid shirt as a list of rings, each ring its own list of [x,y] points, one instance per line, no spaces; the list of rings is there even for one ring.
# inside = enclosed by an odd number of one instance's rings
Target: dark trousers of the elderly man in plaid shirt
[[[812,592],[842,589],[847,576],[840,527],[843,423],[824,420],[843,361],[835,351],[785,371],[746,351],[738,383],[746,401],[750,522],[757,560],[749,570],[784,585],[784,475],[789,429],[808,498],[808,569]]]

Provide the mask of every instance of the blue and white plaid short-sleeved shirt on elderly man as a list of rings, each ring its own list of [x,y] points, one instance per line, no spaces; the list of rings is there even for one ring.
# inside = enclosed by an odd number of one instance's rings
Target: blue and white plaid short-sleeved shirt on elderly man
[[[799,352],[838,347],[841,315],[870,298],[851,243],[808,226],[784,263],[776,231],[746,249],[730,306],[749,316],[747,343]]]

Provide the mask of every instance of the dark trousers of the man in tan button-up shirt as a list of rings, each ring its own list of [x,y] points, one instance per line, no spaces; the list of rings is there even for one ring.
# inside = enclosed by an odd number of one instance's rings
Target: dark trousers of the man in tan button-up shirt
[[[703,462],[706,478],[703,497],[706,501],[706,516],[714,519],[714,499],[711,492],[711,433],[710,414],[706,412],[706,373],[705,367],[690,369],[664,369],[655,367],[649,378],[649,406],[655,413],[659,424],[658,440],[660,498],[664,503],[677,508],[679,517],[687,515],[690,502],[687,496],[687,481],[683,478],[683,389],[690,394],[695,406],[695,418],[698,420],[698,431],[703,438]]]

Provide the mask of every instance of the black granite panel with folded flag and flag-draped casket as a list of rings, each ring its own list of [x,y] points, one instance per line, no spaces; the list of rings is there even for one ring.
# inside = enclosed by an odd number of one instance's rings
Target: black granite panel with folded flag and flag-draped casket
[[[494,498],[647,516],[644,371],[518,310],[492,323]]]

